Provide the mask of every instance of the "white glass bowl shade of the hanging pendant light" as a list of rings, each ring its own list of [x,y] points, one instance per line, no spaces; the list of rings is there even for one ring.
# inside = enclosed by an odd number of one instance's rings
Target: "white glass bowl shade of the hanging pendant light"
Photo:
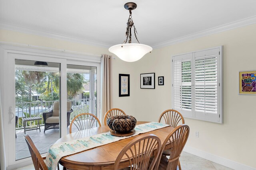
[[[108,49],[123,61],[134,62],[141,59],[146,53],[152,51],[152,47],[144,44],[129,43],[118,44]]]

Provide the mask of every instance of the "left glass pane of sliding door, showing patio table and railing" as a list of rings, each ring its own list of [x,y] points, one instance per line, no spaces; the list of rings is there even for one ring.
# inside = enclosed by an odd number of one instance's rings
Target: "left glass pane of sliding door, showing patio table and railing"
[[[59,139],[60,92],[60,63],[15,59],[15,160],[30,157],[24,134],[40,154]]]

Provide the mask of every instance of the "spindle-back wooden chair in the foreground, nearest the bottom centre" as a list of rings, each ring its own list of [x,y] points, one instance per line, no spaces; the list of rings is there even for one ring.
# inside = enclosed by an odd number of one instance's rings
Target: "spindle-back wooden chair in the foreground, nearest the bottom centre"
[[[160,154],[160,147],[161,141],[154,134],[145,134],[136,137],[118,154],[113,169],[152,170]],[[150,164],[150,157],[153,156],[153,154],[155,155]],[[122,165],[122,160],[129,160],[127,161],[128,164]]]

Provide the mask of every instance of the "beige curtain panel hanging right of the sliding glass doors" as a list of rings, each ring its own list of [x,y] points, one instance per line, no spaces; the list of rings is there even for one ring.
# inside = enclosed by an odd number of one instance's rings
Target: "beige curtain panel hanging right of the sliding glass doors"
[[[100,122],[104,125],[104,114],[110,109],[110,68],[111,56],[102,55],[100,70],[101,70],[101,95],[100,95]]]

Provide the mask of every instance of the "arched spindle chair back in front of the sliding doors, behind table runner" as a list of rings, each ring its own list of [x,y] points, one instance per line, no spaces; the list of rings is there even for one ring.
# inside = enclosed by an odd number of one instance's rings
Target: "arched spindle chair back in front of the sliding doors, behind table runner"
[[[74,117],[74,119],[70,123],[69,127],[69,133],[72,133],[72,125],[74,124],[78,131],[84,130],[84,129],[90,129],[92,127],[96,127],[96,125],[101,126],[100,120],[98,117],[91,113],[81,113]]]

